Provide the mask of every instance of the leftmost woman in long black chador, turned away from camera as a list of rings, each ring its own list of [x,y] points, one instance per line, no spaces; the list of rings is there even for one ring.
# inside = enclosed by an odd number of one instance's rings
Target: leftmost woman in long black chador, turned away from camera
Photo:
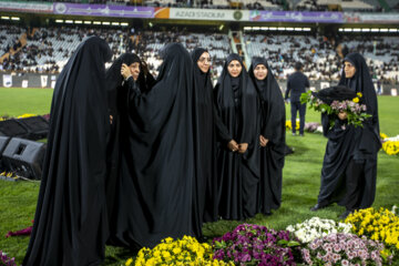
[[[105,205],[106,42],[83,41],[59,75],[34,225],[23,265],[100,265]]]

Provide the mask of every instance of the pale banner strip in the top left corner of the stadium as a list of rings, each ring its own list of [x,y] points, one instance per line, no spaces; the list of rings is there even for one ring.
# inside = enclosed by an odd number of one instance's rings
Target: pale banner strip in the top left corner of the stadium
[[[43,2],[0,1],[0,10],[29,13],[52,13],[53,4]]]

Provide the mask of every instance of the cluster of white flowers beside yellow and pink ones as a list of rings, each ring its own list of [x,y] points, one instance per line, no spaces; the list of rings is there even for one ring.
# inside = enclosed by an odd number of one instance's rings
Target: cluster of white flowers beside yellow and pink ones
[[[306,219],[304,223],[289,225],[286,229],[293,233],[301,243],[310,243],[316,238],[325,237],[329,234],[350,233],[351,225],[337,223],[332,219],[313,217]]]

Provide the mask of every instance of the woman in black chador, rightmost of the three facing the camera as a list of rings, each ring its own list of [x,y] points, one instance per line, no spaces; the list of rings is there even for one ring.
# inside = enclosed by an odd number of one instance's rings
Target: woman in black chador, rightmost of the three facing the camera
[[[253,58],[249,76],[257,89],[260,105],[260,181],[257,212],[272,214],[282,203],[285,155],[285,105],[282,90],[266,59]]]

